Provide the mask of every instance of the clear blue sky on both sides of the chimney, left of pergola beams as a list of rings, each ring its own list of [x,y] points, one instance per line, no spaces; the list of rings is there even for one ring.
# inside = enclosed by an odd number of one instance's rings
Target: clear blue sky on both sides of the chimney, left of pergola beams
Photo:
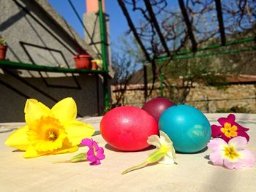
[[[67,23],[69,23],[81,37],[84,37],[83,26],[67,0],[48,0],[48,2],[65,20],[67,20]],[[86,12],[86,0],[72,0],[72,4],[74,4],[75,9],[77,9],[80,18],[83,19],[83,13]],[[105,12],[110,15],[111,42],[118,45],[118,37],[124,36],[124,32],[128,30],[127,21],[116,0],[105,0]]]

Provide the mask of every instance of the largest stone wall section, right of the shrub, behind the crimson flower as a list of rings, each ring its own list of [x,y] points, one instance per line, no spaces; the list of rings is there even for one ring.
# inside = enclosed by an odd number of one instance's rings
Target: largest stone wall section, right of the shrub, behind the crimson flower
[[[229,85],[225,88],[197,85],[189,93],[187,104],[203,112],[256,112],[255,85]]]

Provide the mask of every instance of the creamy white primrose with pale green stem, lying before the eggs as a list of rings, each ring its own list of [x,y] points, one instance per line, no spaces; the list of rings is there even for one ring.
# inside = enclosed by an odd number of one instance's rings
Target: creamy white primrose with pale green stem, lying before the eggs
[[[174,164],[176,161],[176,153],[173,147],[173,142],[163,131],[160,131],[160,137],[158,135],[151,135],[147,140],[148,144],[157,147],[153,153],[151,153],[145,162],[137,166],[132,166],[131,168],[122,172],[126,174],[135,169],[140,169],[148,164],[160,163],[160,164]]]

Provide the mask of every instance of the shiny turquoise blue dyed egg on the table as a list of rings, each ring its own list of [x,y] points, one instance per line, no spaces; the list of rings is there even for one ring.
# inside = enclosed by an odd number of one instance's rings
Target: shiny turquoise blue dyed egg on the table
[[[200,110],[189,105],[174,105],[162,113],[159,129],[173,141],[181,153],[203,150],[211,139],[211,125]]]

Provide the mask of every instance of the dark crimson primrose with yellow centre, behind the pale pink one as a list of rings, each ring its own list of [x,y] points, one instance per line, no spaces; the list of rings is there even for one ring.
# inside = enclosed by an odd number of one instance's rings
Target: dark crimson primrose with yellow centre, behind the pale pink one
[[[219,118],[218,122],[221,126],[211,126],[211,137],[222,137],[222,139],[228,142],[233,137],[242,136],[249,141],[249,135],[245,132],[249,128],[240,126],[235,120],[236,117],[233,114],[228,115],[227,118]]]

